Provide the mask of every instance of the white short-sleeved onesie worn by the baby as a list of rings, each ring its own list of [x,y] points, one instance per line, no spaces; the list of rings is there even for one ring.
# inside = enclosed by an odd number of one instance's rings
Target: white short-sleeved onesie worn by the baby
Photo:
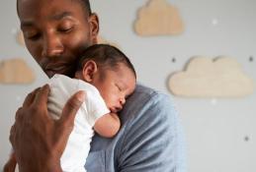
[[[84,165],[94,136],[93,126],[97,119],[110,112],[100,92],[95,86],[84,81],[54,75],[50,81],[48,112],[53,119],[59,119],[66,101],[78,90],[86,91],[85,102],[78,110],[74,129],[69,136],[60,158],[65,172],[86,172]]]

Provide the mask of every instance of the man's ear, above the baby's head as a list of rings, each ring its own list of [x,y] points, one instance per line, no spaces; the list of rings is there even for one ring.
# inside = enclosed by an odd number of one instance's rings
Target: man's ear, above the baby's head
[[[92,41],[94,44],[98,43],[97,37],[99,33],[99,18],[96,13],[92,13],[89,16],[89,25],[90,25],[90,31],[92,36]]]

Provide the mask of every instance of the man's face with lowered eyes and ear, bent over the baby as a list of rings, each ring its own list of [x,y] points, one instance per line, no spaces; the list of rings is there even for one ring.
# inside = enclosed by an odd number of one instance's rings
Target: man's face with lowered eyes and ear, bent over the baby
[[[49,78],[72,77],[80,52],[97,42],[98,18],[78,0],[18,0],[18,15],[26,46]]]

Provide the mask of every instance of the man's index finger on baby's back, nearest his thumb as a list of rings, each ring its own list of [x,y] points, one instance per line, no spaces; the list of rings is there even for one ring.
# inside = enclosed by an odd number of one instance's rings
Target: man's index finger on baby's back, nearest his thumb
[[[49,86],[44,85],[39,91],[36,92],[34,103],[36,105],[39,105],[40,107],[46,108],[48,93],[49,93]]]

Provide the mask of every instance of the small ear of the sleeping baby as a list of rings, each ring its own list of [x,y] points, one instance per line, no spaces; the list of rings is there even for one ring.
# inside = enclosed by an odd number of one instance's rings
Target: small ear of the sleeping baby
[[[97,71],[98,71],[98,67],[95,61],[93,60],[87,61],[83,66],[83,72],[82,72],[83,79],[86,82],[91,83]]]

